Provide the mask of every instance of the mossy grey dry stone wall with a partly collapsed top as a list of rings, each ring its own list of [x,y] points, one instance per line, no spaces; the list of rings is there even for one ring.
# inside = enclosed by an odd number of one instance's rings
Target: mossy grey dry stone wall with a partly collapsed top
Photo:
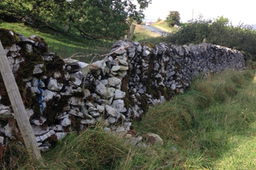
[[[8,39],[3,41],[3,35]],[[97,122],[125,135],[133,118],[183,93],[193,75],[245,66],[239,51],[206,43],[117,41],[105,59],[88,64],[49,53],[39,36],[28,39],[2,29],[0,39],[41,148]],[[10,140],[21,140],[21,135],[0,77],[0,145]]]

